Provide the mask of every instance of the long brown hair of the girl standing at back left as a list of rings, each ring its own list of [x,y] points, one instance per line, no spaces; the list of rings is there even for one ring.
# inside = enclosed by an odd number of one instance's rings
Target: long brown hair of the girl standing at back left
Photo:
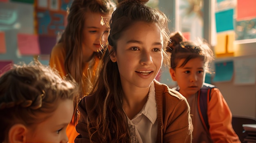
[[[73,124],[77,123],[77,103],[84,96],[82,77],[85,63],[83,63],[82,31],[85,25],[86,12],[109,14],[113,12],[114,6],[115,4],[111,0],[74,0],[69,9],[68,23],[59,43],[63,43],[66,51],[64,66],[69,75],[68,78],[75,79],[81,91],[81,95],[74,99]]]

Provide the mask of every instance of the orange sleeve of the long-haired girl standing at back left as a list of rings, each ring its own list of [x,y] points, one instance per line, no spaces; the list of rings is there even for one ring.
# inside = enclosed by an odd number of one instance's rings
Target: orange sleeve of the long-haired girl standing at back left
[[[52,52],[49,60],[49,66],[58,70],[61,77],[64,77],[67,75],[64,67],[64,62],[65,62],[65,51],[64,51],[63,44],[60,44],[60,43],[56,44],[52,48]]]

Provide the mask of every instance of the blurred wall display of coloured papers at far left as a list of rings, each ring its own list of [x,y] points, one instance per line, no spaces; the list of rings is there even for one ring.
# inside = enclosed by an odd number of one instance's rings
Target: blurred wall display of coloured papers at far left
[[[72,0],[0,0],[0,72],[9,64],[48,65]]]

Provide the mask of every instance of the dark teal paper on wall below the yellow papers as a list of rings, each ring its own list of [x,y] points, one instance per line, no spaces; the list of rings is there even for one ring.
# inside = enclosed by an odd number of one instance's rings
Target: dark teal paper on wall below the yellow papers
[[[233,61],[216,62],[213,82],[231,81],[234,74]]]

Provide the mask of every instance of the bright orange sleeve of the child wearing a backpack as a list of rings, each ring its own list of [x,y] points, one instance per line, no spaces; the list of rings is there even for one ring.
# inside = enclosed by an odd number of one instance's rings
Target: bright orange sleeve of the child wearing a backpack
[[[208,103],[209,133],[214,143],[240,143],[232,127],[232,114],[218,88],[211,90]]]

